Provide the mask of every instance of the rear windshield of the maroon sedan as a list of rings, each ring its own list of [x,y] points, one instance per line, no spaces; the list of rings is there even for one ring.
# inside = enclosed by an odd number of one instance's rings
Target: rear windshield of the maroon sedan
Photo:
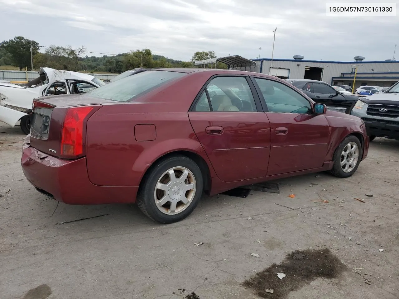
[[[184,75],[186,75],[186,73],[146,71],[111,82],[100,88],[93,89],[86,94],[107,100],[127,102],[136,96],[142,96]]]

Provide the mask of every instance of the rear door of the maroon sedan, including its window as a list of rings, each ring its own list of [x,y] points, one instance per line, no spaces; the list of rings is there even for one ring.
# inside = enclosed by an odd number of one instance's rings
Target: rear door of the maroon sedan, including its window
[[[247,76],[213,77],[189,112],[194,132],[219,179],[265,177],[270,124]]]

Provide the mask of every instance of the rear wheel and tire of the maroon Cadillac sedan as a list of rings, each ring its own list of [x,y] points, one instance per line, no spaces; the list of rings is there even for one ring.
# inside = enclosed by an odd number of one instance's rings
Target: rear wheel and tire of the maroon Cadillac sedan
[[[201,169],[185,156],[153,165],[140,185],[137,205],[152,220],[172,223],[186,218],[198,205],[203,191]]]

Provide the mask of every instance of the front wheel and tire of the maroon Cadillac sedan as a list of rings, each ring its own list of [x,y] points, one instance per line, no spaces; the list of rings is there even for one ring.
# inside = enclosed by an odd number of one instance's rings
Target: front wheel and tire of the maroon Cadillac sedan
[[[346,137],[334,153],[330,173],[335,177],[352,176],[359,167],[362,155],[360,140],[356,136]]]

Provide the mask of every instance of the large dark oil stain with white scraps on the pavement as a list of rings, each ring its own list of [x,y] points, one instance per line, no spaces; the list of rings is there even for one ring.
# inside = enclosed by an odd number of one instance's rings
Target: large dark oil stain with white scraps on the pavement
[[[261,298],[282,299],[318,277],[337,278],[347,267],[328,248],[323,250],[294,251],[279,264],[256,273],[243,282],[243,286],[254,289]],[[280,279],[277,273],[286,277]],[[273,293],[265,290],[273,289]]]

